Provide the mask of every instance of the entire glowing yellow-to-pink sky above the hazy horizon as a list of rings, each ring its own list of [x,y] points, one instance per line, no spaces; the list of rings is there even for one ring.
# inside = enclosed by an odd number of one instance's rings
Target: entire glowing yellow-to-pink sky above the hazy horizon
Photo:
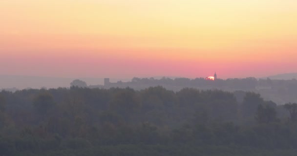
[[[0,0],[0,75],[297,72],[297,0]]]

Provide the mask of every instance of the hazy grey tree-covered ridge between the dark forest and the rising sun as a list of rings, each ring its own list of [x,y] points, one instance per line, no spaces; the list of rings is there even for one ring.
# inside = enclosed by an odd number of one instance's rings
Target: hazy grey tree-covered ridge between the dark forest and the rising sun
[[[297,103],[297,80],[279,80],[279,79],[256,79],[249,78],[228,78],[216,80],[207,80],[205,78],[132,78],[128,82],[108,82],[105,85],[89,85],[88,88],[126,88],[142,90],[148,87],[163,86],[168,90],[178,92],[183,88],[195,88],[199,90],[223,90],[233,92],[234,94],[244,92],[254,92],[260,94],[265,100],[271,100],[277,104],[288,102]],[[237,93],[236,93],[237,92]]]

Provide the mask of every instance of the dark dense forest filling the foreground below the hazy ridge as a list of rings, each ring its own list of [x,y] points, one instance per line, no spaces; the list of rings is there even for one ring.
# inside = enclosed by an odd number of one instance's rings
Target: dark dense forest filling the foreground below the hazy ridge
[[[296,155],[297,104],[251,92],[0,92],[0,156]]]

